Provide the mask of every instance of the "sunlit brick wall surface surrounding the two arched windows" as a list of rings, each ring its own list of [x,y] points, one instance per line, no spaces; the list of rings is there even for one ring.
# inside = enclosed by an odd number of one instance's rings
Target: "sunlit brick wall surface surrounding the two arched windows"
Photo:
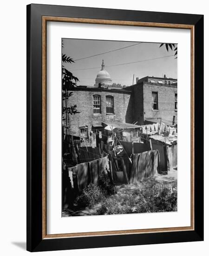
[[[88,131],[91,131],[94,121],[118,121],[126,122],[127,108],[130,105],[130,92],[112,92],[111,90],[94,90],[94,89],[74,89],[72,96],[68,98],[68,107],[77,105],[79,114],[69,115],[70,129],[69,132],[79,136],[79,127],[88,126]],[[101,114],[93,113],[93,95],[101,96]],[[114,97],[114,115],[106,114],[106,96]],[[65,102],[64,102],[65,106]],[[130,109],[130,108],[129,108]],[[131,110],[130,110],[131,111]],[[130,119],[131,121],[131,119]]]

